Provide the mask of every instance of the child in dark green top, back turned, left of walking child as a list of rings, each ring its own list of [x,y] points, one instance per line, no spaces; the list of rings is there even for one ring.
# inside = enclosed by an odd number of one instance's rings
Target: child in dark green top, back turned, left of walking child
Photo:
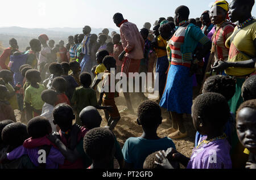
[[[88,72],[82,72],[79,76],[81,86],[76,88],[74,95],[72,97],[71,103],[76,112],[76,123],[77,125],[82,125],[81,120],[79,118],[79,114],[82,109],[86,106],[94,106],[97,109],[108,109],[109,106],[103,107],[99,106],[96,98],[96,92],[90,88],[90,84],[92,83],[91,76]]]

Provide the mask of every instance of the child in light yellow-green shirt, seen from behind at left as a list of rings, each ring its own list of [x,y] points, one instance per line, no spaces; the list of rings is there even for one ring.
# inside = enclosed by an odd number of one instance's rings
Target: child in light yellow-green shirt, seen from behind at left
[[[34,117],[42,113],[44,102],[41,98],[41,93],[46,89],[41,82],[40,72],[37,70],[28,70],[26,72],[26,79],[30,82],[30,86],[25,90],[24,95],[24,109],[26,111],[27,122],[32,119],[32,112]]]

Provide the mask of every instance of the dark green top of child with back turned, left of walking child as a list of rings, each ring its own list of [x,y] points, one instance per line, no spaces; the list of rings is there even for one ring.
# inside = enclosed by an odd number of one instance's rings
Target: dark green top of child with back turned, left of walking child
[[[92,88],[84,88],[82,86],[76,88],[71,100],[75,104],[74,108],[78,113],[87,106],[97,106],[96,92]]]

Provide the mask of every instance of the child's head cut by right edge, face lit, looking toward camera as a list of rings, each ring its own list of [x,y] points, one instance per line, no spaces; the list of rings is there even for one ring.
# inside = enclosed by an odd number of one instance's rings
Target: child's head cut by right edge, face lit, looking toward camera
[[[242,145],[256,154],[256,100],[243,102],[237,110],[237,135]]]

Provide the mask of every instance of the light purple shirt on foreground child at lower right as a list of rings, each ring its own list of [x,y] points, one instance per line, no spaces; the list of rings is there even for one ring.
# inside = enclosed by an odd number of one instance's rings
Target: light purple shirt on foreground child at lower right
[[[187,169],[232,169],[229,152],[230,145],[226,139],[203,144],[198,149],[193,149]]]

